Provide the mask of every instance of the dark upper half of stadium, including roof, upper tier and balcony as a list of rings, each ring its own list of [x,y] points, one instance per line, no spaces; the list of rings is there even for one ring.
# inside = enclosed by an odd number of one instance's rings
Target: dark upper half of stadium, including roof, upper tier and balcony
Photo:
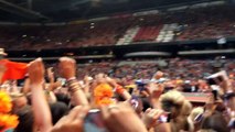
[[[209,57],[234,55],[235,8],[229,1],[160,0],[154,4],[150,4],[153,2],[151,0],[139,2],[120,0],[114,3],[96,1],[99,4],[92,6],[87,14],[82,14],[86,11],[77,10],[83,10],[82,8],[88,10],[89,8],[83,3],[90,4],[94,1],[63,3],[63,1],[54,2],[53,0],[15,0],[11,2],[11,4],[1,2],[2,15],[0,15],[3,24],[0,25],[0,45],[9,52],[10,58],[110,55],[115,59],[127,57],[127,54],[136,52],[159,52],[156,55],[159,57],[165,57],[161,52],[169,54],[167,55],[169,57],[200,57],[207,54],[206,52],[193,53],[194,51],[214,51]],[[29,2],[32,2],[32,7],[28,7]],[[75,2],[79,9],[71,10],[70,6]],[[129,9],[138,4],[139,9]],[[129,11],[121,6],[127,6],[126,9]],[[109,11],[108,7],[114,11]],[[29,11],[31,10],[29,8],[33,11]],[[105,15],[107,13],[110,15]],[[8,14],[12,14],[13,18]],[[102,16],[96,19],[93,18],[94,15]],[[28,20],[24,20],[25,16]],[[105,20],[103,20],[104,16]],[[42,22],[39,18],[51,18],[51,20]],[[13,20],[8,20],[10,21],[8,23],[4,19]],[[56,23],[56,21],[60,22]],[[136,34],[131,36],[128,32]],[[191,53],[188,54],[188,52]],[[149,57],[152,56],[154,55]]]

